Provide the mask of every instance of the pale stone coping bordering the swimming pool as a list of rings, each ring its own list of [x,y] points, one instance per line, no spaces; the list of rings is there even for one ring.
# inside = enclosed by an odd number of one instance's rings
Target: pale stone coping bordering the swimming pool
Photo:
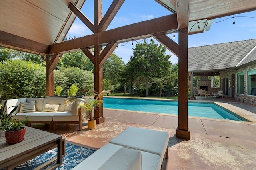
[[[176,101],[174,99],[151,99],[151,98],[142,98],[142,97],[122,97],[122,96],[104,96],[107,98],[126,98],[126,99],[143,99],[143,100],[165,100],[165,101]],[[214,119],[214,118],[207,118],[207,117],[196,117],[196,116],[188,116],[190,119],[204,119],[204,120],[213,120],[213,121],[223,121],[223,122],[232,122],[232,123],[242,123],[242,124],[247,124],[247,125],[256,125],[256,119],[253,117],[250,117],[250,114],[254,114],[250,111],[247,111],[245,109],[242,109],[240,107],[234,106],[232,104],[228,103],[222,103],[222,102],[213,102],[213,101],[188,101],[189,103],[210,103],[210,104],[216,104],[219,107],[222,107],[223,109],[228,110],[229,112],[232,112],[231,114],[238,115],[238,117],[242,117],[243,119],[246,119],[248,121],[235,121],[235,120],[229,120],[229,119]],[[166,115],[166,116],[173,116],[173,117],[178,117],[178,115],[175,114],[166,114],[166,113],[156,113],[156,112],[145,112],[145,111],[132,111],[132,110],[124,110],[124,109],[111,109],[111,108],[103,108],[103,109],[109,109],[109,110],[120,110],[120,111],[128,111],[128,112],[134,112],[134,113],[144,113],[144,114],[154,114],[154,115]],[[241,112],[243,111],[243,112]],[[248,114],[245,114],[248,113]]]

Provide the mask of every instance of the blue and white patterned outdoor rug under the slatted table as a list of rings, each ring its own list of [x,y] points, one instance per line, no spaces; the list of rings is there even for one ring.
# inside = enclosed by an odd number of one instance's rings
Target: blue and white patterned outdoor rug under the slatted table
[[[79,147],[66,143],[66,155],[62,158],[62,165],[60,165],[56,170],[70,170],[74,168],[77,164],[85,160],[88,156],[93,154],[95,150]],[[44,162],[57,156],[57,148],[49,150],[48,152],[37,156],[36,158],[21,164],[14,168],[15,170],[32,170]]]

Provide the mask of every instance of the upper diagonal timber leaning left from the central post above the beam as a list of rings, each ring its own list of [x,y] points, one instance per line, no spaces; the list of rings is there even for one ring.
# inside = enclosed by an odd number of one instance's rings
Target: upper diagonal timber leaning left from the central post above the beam
[[[90,21],[81,10],[79,10],[74,4],[70,2],[68,8],[76,14],[76,16],[94,33],[94,25],[92,21]]]

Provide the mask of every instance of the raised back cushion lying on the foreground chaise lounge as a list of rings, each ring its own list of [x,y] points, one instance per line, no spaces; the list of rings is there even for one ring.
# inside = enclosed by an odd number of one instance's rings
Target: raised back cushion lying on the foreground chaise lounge
[[[141,170],[141,152],[120,148],[98,170]]]

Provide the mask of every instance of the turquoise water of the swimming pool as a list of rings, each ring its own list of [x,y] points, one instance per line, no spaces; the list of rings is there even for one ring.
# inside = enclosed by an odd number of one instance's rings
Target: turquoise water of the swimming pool
[[[104,98],[104,108],[145,111],[178,115],[178,102],[126,98]],[[243,121],[232,113],[208,103],[188,103],[188,115],[214,119]]]

